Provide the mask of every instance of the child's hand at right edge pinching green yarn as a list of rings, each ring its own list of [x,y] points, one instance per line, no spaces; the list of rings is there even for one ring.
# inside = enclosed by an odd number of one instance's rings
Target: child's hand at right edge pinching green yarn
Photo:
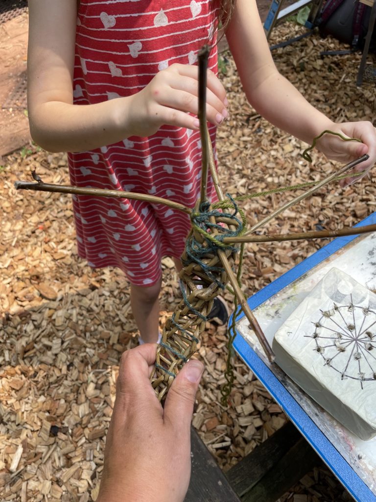
[[[317,140],[316,147],[328,159],[335,160],[341,164],[347,164],[364,154],[369,155],[367,161],[358,164],[354,172],[369,171],[369,169],[376,162],[376,129],[372,126],[371,122],[357,121],[357,122],[343,122],[332,123],[328,127],[333,133],[339,133],[345,138],[356,138],[361,140],[357,141],[343,141],[340,137],[332,134],[324,134]],[[340,181],[341,186],[351,185],[355,181],[360,180],[367,173],[356,178],[345,178]]]

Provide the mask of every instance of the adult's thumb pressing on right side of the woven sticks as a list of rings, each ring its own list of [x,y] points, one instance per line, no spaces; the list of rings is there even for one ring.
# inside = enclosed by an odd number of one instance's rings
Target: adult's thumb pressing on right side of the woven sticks
[[[177,374],[168,391],[163,417],[176,427],[191,426],[193,407],[204,365],[197,359],[188,361]]]

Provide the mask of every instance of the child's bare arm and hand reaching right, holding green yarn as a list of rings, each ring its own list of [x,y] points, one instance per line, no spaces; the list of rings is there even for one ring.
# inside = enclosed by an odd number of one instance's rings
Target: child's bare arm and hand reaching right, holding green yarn
[[[324,130],[361,139],[363,143],[344,142],[336,136],[324,135],[317,148],[326,157],[343,163],[368,153],[369,160],[360,164],[359,170],[374,164],[376,133],[370,122],[334,123],[278,72],[255,0],[237,0],[226,36],[247,98],[261,115],[308,144]]]

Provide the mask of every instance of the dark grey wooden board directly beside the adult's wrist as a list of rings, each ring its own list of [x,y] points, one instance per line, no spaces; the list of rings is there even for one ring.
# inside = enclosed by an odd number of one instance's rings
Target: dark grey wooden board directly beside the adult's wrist
[[[193,427],[191,455],[191,480],[184,502],[240,502],[240,498]]]

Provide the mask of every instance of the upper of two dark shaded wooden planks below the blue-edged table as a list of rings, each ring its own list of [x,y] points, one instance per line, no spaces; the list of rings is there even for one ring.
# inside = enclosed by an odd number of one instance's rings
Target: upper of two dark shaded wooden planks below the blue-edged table
[[[247,493],[271,469],[275,468],[275,464],[283,459],[300,439],[299,431],[291,422],[288,422],[267,441],[257,446],[226,473],[235,492],[239,496]]]

